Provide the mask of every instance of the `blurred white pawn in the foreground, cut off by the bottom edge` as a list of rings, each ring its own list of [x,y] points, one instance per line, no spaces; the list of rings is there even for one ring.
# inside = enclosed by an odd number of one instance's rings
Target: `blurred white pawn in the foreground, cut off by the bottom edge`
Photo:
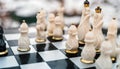
[[[105,40],[102,42],[100,48],[101,54],[95,62],[96,69],[112,69],[111,48],[112,46],[109,41]]]

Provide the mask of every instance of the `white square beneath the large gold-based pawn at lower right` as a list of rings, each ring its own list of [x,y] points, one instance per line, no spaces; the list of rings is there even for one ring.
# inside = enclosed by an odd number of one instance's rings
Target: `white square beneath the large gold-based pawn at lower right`
[[[80,69],[86,69],[86,68],[94,68],[95,67],[95,63],[93,64],[84,64],[80,61],[81,57],[74,57],[74,58],[70,58],[70,60],[77,65]]]

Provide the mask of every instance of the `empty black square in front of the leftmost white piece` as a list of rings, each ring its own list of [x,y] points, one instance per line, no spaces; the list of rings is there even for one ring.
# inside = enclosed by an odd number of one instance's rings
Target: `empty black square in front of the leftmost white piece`
[[[15,55],[15,57],[19,64],[43,62],[43,59],[38,53],[20,54],[20,55]]]

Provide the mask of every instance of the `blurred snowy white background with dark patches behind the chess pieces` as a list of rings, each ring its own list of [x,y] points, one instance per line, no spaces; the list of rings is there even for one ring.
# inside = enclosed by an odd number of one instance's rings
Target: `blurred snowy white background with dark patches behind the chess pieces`
[[[107,28],[111,18],[120,21],[120,0],[88,0],[90,2],[91,17],[96,6],[101,6],[104,14],[104,28]],[[0,0],[0,24],[4,28],[19,27],[23,19],[29,25],[36,24],[36,13],[43,8],[46,14],[55,13],[61,6],[65,7],[65,24],[78,24],[84,0]],[[46,19],[47,19],[46,15]],[[92,18],[90,20],[92,23]]]

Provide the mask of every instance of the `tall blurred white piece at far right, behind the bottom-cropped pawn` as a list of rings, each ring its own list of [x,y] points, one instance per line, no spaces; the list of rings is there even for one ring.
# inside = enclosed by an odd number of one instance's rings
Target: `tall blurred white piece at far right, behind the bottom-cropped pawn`
[[[115,58],[116,57],[116,47],[117,47],[117,21],[115,18],[112,19],[110,24],[108,25],[108,32],[107,32],[107,39],[111,42],[112,45],[112,54],[111,57]]]

